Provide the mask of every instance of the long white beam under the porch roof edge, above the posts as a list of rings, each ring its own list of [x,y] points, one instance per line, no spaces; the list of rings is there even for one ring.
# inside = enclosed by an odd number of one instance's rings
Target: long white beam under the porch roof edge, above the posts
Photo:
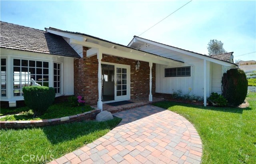
[[[122,58],[129,58],[129,59],[140,60],[140,61],[144,61],[144,62],[153,62],[156,64],[163,64],[163,65],[167,65],[167,66],[170,66],[173,63],[180,64],[180,62],[174,61],[172,59],[163,58],[161,56],[155,56],[155,55],[140,52],[137,50],[133,50],[132,52],[130,52],[130,49],[127,48],[129,51],[126,52],[123,50],[116,49],[119,46],[116,46],[116,48],[107,48],[104,46],[100,46],[99,44],[95,44],[95,43],[91,43],[91,42],[81,42],[81,41],[75,40],[75,39],[70,39],[70,43],[79,44],[79,45],[94,48],[94,49],[95,48],[100,49],[102,51],[102,53],[104,53],[104,54],[119,56]],[[122,47],[122,48],[124,48],[124,47]]]

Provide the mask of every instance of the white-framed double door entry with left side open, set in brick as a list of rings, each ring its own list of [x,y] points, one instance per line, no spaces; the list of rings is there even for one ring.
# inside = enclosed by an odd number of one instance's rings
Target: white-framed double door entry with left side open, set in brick
[[[130,66],[102,62],[102,102],[130,100]]]

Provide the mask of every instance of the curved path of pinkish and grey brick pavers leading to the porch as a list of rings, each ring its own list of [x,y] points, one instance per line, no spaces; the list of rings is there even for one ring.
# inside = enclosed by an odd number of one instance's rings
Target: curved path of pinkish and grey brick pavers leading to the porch
[[[156,106],[115,113],[122,122],[105,136],[51,164],[199,164],[202,142],[184,117]]]

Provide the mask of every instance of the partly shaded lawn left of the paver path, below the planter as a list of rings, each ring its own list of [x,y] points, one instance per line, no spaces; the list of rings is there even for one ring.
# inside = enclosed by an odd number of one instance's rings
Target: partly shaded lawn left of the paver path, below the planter
[[[29,161],[32,164],[48,163],[66,153],[93,142],[119,124],[121,118],[106,122],[74,122],[43,128],[1,130],[1,164],[20,164],[29,160],[30,155],[44,156],[44,161]],[[26,156],[26,154],[28,156]],[[46,156],[46,158],[45,158]],[[45,160],[47,159],[47,161]],[[36,158],[34,159],[36,160]]]

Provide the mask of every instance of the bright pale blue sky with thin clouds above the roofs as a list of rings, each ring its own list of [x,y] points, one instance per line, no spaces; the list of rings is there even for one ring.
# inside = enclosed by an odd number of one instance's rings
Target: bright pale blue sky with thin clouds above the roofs
[[[190,0],[0,1],[0,20],[44,30],[54,27],[128,45],[133,36]],[[256,0],[192,0],[140,37],[208,54],[220,40],[234,60],[256,60]],[[251,53],[253,52],[253,53]]]

